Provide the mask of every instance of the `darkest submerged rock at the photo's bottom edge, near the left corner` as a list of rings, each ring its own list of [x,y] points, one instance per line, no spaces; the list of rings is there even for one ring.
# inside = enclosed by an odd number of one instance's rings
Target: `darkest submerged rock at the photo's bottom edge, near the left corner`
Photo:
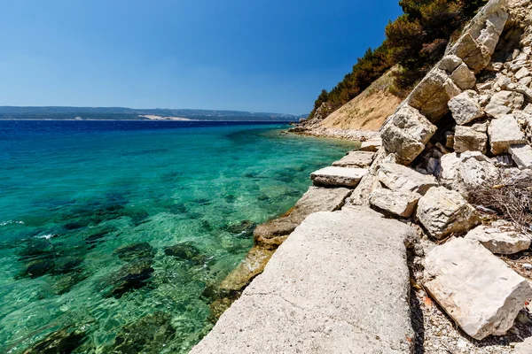
[[[42,341],[24,351],[24,354],[63,354],[71,353],[85,342],[86,334],[80,331],[69,331],[68,327],[46,336]]]

